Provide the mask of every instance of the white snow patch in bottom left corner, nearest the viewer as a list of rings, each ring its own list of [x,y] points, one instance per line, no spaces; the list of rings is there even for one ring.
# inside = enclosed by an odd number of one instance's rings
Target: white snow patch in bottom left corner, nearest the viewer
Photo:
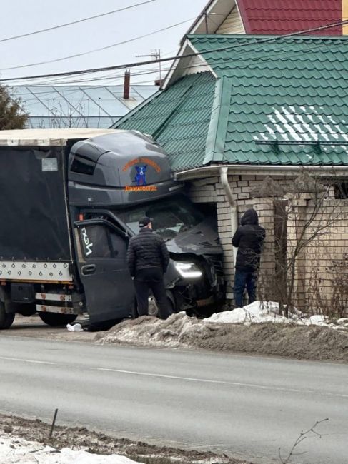
[[[0,463],[132,464],[135,461],[116,454],[96,455],[70,448],[63,448],[59,451],[50,446],[41,445],[41,443],[0,434]]]

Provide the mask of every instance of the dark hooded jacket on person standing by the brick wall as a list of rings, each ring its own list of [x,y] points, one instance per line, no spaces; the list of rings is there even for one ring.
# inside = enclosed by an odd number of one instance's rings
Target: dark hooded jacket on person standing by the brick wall
[[[232,245],[238,247],[236,269],[239,271],[254,272],[259,268],[262,243],[266,233],[259,226],[259,218],[254,209],[248,209],[241,219],[232,238]]]

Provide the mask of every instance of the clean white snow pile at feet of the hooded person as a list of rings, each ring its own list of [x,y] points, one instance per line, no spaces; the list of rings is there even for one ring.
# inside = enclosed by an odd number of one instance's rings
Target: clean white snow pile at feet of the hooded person
[[[214,313],[210,318],[204,319],[204,322],[213,323],[230,323],[244,324],[249,326],[251,323],[282,323],[298,324],[300,326],[324,326],[339,330],[348,330],[348,318],[329,321],[329,318],[322,314],[314,316],[305,316],[296,308],[289,313],[289,317],[282,316],[279,311],[279,304],[274,301],[254,301],[244,308],[236,308],[232,311],[223,311]]]

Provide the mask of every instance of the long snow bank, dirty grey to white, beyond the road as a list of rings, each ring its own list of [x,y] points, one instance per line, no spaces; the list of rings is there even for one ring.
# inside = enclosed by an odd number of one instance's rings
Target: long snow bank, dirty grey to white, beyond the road
[[[192,318],[184,312],[172,314],[166,321],[143,316],[121,322],[110,331],[97,334],[94,340],[101,344],[119,343],[155,348],[210,349],[214,343],[217,343],[217,338],[221,338],[223,344],[224,338],[232,331],[227,324],[255,326],[261,323],[274,323],[278,327],[289,328],[291,325],[325,326],[348,333],[348,318],[332,322],[321,315],[306,317],[296,309],[289,314],[289,318],[286,318],[279,314],[278,303],[254,301],[244,308],[214,313],[206,319]],[[239,350],[241,350],[240,346]]]

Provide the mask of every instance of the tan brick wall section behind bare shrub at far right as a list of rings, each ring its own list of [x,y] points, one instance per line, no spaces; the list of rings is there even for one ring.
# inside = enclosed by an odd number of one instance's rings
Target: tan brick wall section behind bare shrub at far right
[[[340,266],[337,268],[337,264],[343,263],[344,255],[348,252],[348,200],[325,200],[316,211],[314,202],[308,199],[298,210],[298,225],[289,230],[289,247],[293,247],[296,242],[295,232],[299,233],[310,218],[314,217],[314,220],[305,234],[305,238],[310,241],[309,245],[297,259],[297,306],[312,311],[319,309],[324,313],[336,313],[337,303],[333,301],[333,296],[337,291],[342,291],[339,286],[343,285],[342,279],[344,281],[344,273],[347,272]],[[314,235],[317,236],[312,240]]]

